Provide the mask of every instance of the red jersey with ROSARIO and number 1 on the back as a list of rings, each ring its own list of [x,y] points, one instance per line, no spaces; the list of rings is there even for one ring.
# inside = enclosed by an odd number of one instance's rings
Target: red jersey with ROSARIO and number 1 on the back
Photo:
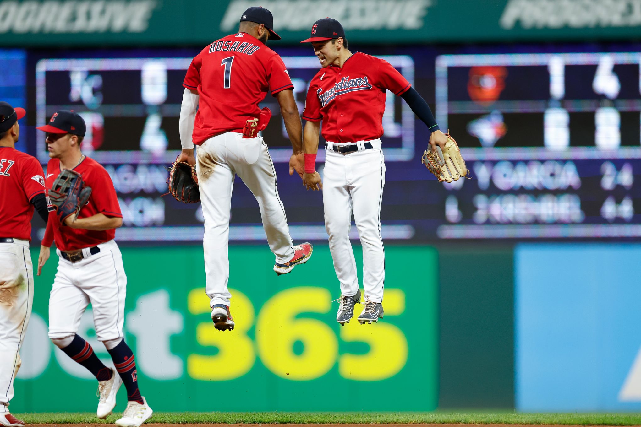
[[[242,132],[248,119],[260,115],[258,103],[267,92],[274,96],[294,88],[281,57],[247,33],[205,47],[189,65],[183,86],[200,95],[195,144],[224,132]]]

